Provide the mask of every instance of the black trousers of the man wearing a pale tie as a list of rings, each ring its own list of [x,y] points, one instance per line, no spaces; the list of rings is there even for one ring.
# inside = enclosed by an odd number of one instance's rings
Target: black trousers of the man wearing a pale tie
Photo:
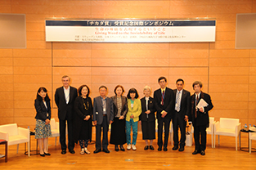
[[[181,140],[180,140],[180,146],[185,145],[186,141],[186,121],[184,120],[185,116],[181,113],[175,113],[173,114],[173,141],[174,145],[178,145],[178,127],[180,128],[181,131]]]

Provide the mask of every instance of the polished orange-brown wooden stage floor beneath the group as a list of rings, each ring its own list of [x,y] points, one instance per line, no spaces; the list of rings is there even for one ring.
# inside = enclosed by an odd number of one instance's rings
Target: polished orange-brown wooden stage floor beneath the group
[[[40,155],[24,154],[24,144],[20,145],[19,153],[16,154],[16,145],[9,147],[8,162],[4,158],[0,159],[1,170],[51,170],[51,169],[256,169],[256,152],[238,151],[235,149],[235,137],[221,136],[221,144],[216,148],[211,148],[211,136],[207,136],[207,148],[205,155],[192,155],[194,145],[186,146],[183,152],[173,151],[170,142],[168,151],[159,152],[157,150],[156,140],[154,140],[155,150],[144,150],[145,142],[141,140],[141,133],[137,137],[137,150],[125,150],[116,152],[114,145],[109,145],[110,154],[100,152],[93,154],[95,145],[88,145],[91,154],[79,154],[79,145],[75,145],[75,154],[61,154],[61,146],[54,145],[55,138],[49,139],[49,153],[51,156],[41,157]],[[95,139],[93,134],[92,139]],[[241,145],[248,145],[247,134],[241,137]],[[31,139],[32,150],[35,149],[35,139]],[[124,145],[126,147],[126,145]],[[256,148],[256,141],[253,141],[253,147]],[[0,154],[4,154],[4,146],[0,145]]]

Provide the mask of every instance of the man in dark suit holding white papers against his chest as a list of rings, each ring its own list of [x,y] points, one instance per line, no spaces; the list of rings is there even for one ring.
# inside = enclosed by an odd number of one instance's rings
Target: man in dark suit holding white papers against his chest
[[[191,96],[191,121],[194,127],[195,151],[192,154],[205,154],[206,148],[206,128],[209,127],[209,110],[213,109],[213,104],[209,94],[201,91],[203,84],[199,81],[193,83],[195,93]],[[204,100],[208,105],[198,108],[200,100]],[[200,137],[201,135],[201,137]],[[201,140],[200,140],[201,139]]]

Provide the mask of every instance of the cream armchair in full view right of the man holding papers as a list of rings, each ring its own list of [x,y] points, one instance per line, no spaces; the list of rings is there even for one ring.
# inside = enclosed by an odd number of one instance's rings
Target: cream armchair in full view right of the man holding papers
[[[214,148],[215,148],[215,136],[218,135],[218,145],[219,136],[235,136],[236,137],[236,150],[237,150],[237,136],[240,132],[239,119],[229,119],[220,118],[214,126]]]

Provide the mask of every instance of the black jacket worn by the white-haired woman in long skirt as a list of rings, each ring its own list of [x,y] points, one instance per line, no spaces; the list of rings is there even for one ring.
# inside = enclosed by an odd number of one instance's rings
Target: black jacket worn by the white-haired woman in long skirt
[[[148,122],[153,122],[155,121],[155,100],[150,97],[148,101],[148,110],[150,110],[150,114],[146,114],[146,99],[145,97],[141,98],[141,115],[140,115],[140,120],[141,121],[148,121]],[[147,118],[148,115],[148,118]]]

